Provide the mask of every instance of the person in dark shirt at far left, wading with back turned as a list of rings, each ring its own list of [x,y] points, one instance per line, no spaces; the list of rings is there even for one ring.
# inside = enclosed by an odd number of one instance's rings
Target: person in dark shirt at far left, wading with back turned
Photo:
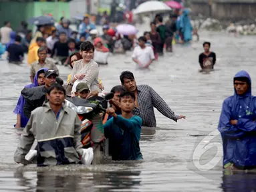
[[[7,49],[9,63],[21,63],[24,57],[24,51],[21,45],[21,36],[17,35],[15,37],[15,43],[9,45]]]

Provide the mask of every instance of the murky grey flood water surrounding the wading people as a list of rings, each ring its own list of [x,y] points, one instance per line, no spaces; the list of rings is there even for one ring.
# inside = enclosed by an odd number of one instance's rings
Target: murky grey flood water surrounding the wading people
[[[23,167],[13,161],[19,130],[13,128],[13,109],[21,89],[29,83],[29,67],[0,61],[0,191],[253,191],[255,174],[223,172],[222,145],[216,131],[223,99],[233,94],[233,76],[249,71],[255,93],[255,37],[201,33],[197,43],[176,45],[150,70],[136,71],[130,57],[110,57],[100,66],[105,91],[119,85],[119,75],[132,71],[138,85],[147,84],[176,114],[175,123],[156,111],[156,129],[143,128],[140,149],[144,161],[106,161],[97,166]],[[215,71],[199,73],[203,41],[217,54]],[[58,66],[59,67],[59,66]],[[66,80],[71,69],[59,67]],[[205,135],[205,136],[204,136]]]

